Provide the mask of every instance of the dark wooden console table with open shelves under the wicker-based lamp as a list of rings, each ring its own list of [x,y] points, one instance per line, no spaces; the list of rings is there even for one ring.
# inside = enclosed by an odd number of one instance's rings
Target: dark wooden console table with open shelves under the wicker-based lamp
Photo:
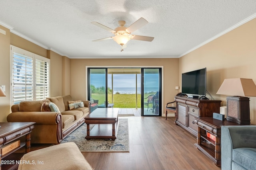
[[[221,161],[221,148],[220,148],[220,135],[221,126],[239,125],[232,121],[224,121],[214,119],[212,117],[194,117],[195,123],[198,126],[197,143],[195,146],[206,156],[208,156],[217,166],[220,166]],[[215,141],[207,136],[207,133],[215,136]]]

